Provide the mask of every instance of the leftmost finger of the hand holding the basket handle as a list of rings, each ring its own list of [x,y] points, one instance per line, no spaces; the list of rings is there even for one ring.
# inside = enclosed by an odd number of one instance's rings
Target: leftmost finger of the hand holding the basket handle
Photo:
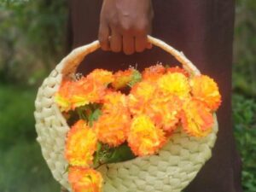
[[[109,32],[110,32],[110,30],[109,30],[107,23],[101,22],[100,27],[99,27],[98,39],[99,39],[99,42],[100,42],[103,50],[110,49],[109,40],[108,40]]]

